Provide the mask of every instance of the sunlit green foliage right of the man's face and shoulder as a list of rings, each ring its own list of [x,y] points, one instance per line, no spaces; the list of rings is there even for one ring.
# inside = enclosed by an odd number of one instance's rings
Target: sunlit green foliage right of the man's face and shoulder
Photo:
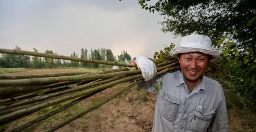
[[[256,74],[252,74],[256,73],[256,56],[246,49],[237,50],[237,43],[225,42],[225,39],[222,37],[217,41],[223,53],[210,65],[210,69],[218,69],[211,77],[224,88],[241,95],[246,106],[256,110]]]

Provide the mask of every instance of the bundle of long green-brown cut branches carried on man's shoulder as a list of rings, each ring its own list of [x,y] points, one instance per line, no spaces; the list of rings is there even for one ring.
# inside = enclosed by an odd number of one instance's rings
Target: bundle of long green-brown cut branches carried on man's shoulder
[[[158,64],[157,75],[173,72],[179,69],[176,60],[168,59],[164,56],[168,55],[166,51],[157,54],[155,53],[154,61]],[[128,87],[120,88],[120,91],[108,97],[104,101],[96,104],[83,111],[82,113],[62,122],[61,124],[51,128],[49,131],[57,130],[58,128],[68,124],[69,122],[79,118],[86,113],[96,109],[104,103],[114,99],[124,91],[127,91],[134,85],[143,80],[141,71],[134,66],[127,64],[119,64],[113,62],[104,62],[99,60],[88,60],[82,58],[73,58],[69,56],[59,56],[54,54],[44,54],[38,52],[29,52],[23,50],[8,50],[0,49],[0,53],[7,54],[22,54],[39,57],[47,57],[54,59],[72,60],[78,62],[89,62],[97,64],[107,64],[116,66],[125,66],[117,70],[104,70],[100,72],[72,72],[60,74],[37,74],[37,75],[0,75],[0,126],[11,121],[23,118],[46,107],[59,103],[66,103],[50,113],[42,115],[34,120],[23,124],[11,130],[12,132],[21,131],[33,124],[36,124],[46,118],[53,116],[69,107],[83,101],[84,99],[108,89],[119,83],[125,83],[132,80],[136,82]],[[159,58],[159,59],[156,59]],[[163,59],[164,58],[164,59]],[[161,60],[160,60],[161,59]],[[134,68],[132,68],[134,67]]]

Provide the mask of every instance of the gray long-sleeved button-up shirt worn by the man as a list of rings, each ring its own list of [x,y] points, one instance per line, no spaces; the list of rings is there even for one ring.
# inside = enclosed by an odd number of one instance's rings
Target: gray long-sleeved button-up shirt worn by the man
[[[202,82],[188,93],[181,71],[142,82],[141,89],[155,92],[155,81],[162,82],[157,93],[152,132],[228,132],[228,115],[222,87],[203,76]]]

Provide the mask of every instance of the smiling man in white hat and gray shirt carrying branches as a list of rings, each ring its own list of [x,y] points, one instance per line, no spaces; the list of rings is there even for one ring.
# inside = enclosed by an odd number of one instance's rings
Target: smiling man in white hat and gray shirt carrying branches
[[[146,56],[136,58],[145,79],[138,87],[154,91],[154,81],[162,81],[157,93],[152,132],[228,132],[228,116],[222,87],[203,76],[207,64],[220,56],[206,35],[188,35],[170,54],[177,57],[181,71],[156,75],[156,66]],[[154,78],[154,79],[152,79]]]

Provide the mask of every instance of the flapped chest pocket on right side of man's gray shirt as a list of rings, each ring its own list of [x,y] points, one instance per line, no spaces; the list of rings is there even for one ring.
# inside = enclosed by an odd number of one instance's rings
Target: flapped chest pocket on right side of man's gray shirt
[[[196,109],[190,123],[190,130],[205,132],[210,125],[214,114],[214,109],[202,105],[196,105]]]

